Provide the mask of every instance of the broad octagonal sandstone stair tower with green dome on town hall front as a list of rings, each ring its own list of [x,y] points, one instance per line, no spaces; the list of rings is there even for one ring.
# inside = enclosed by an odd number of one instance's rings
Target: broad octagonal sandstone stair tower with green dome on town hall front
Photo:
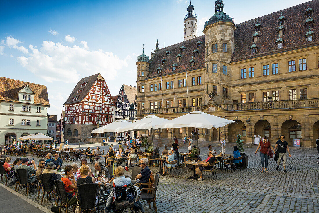
[[[234,53],[236,26],[224,12],[224,3],[217,0],[215,14],[205,22],[205,67],[208,93],[215,93],[217,103],[231,103],[230,80],[232,70],[229,62]]]

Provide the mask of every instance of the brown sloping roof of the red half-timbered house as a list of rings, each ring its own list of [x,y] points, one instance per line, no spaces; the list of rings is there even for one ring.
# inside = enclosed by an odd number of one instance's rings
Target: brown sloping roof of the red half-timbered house
[[[97,73],[95,75],[91,75],[91,76],[86,77],[86,78],[82,78],[77,83],[77,85],[74,87],[73,91],[71,92],[70,96],[68,97],[68,99],[66,100],[66,102],[64,104],[79,103],[79,102],[83,101],[83,99],[88,94],[88,92],[90,91],[90,89],[92,88],[93,84],[95,83],[95,81],[97,79],[104,80],[100,73]],[[85,82],[87,82],[87,84],[84,87],[81,87],[81,84],[83,84]],[[78,93],[78,90],[80,90],[80,89],[83,89],[83,91],[81,93]],[[78,97],[78,99],[76,101],[72,101],[72,99],[75,97]]]

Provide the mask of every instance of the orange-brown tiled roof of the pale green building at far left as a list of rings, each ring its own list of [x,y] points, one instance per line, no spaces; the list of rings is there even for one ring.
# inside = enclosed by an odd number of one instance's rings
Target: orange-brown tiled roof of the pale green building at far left
[[[0,101],[19,102],[18,91],[26,86],[35,93],[34,104],[50,106],[47,86],[4,77],[0,77]]]

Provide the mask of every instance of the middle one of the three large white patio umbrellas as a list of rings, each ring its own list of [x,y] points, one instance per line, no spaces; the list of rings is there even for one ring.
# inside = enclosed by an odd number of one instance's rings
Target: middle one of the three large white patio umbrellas
[[[119,132],[129,132],[129,131],[140,131],[140,130],[151,130],[152,133],[152,147],[154,149],[153,144],[153,129],[155,129],[156,125],[159,125],[163,122],[170,121],[165,118],[159,118],[155,115],[148,115],[145,118],[142,118],[141,120],[138,120],[134,123],[130,123],[130,125],[127,125],[121,129],[119,129]]]

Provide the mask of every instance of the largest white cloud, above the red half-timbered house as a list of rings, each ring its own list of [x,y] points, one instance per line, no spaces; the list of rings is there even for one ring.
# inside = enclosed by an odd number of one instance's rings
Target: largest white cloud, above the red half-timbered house
[[[98,72],[113,80],[117,71],[127,66],[126,59],[101,49],[89,51],[77,45],[69,47],[49,41],[43,41],[40,49],[32,45],[29,48],[31,51],[28,56],[18,57],[18,62],[48,82],[77,83],[80,77]]]

